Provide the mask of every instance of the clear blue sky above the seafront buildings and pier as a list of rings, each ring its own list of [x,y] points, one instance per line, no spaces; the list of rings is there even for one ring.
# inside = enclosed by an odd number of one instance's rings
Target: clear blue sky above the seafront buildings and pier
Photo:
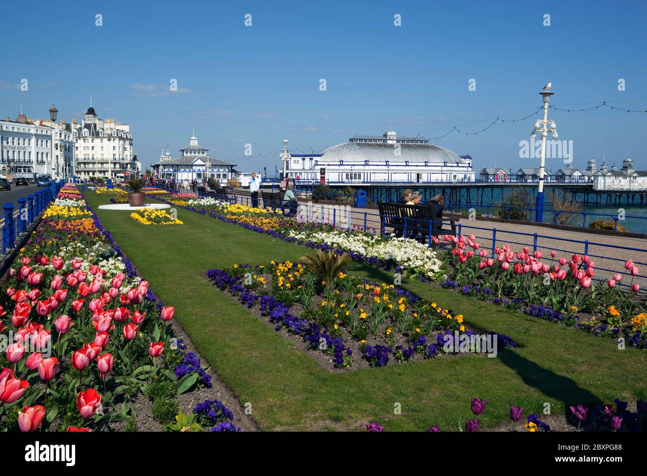
[[[246,143],[254,156],[276,152],[282,139],[321,150],[389,125],[433,138],[457,124],[523,117],[542,105],[538,92],[549,81],[555,106],[631,99],[612,104],[647,109],[645,17],[643,1],[12,2],[3,5],[0,117],[15,119],[22,103],[42,119],[54,103],[60,119],[81,120],[93,96],[99,117],[131,125],[144,166],[167,143],[177,157],[195,128],[213,157],[270,172],[278,155],[245,157]],[[28,91],[19,90],[22,78]],[[468,91],[471,78],[476,91]],[[620,165],[629,152],[647,168],[647,114],[551,110],[549,119],[573,141],[576,167],[603,154]],[[536,163],[519,158],[533,123],[433,143],[470,153],[475,168],[516,170]],[[563,166],[552,160],[548,168]]]

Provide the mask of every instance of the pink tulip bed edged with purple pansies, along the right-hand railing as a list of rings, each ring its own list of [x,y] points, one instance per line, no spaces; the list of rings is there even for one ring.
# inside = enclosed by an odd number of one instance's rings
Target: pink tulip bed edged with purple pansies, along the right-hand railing
[[[442,256],[451,264],[444,288],[647,348],[647,322],[641,318],[644,300],[633,282],[639,269],[631,261],[625,263],[625,273],[595,282],[595,262],[586,255],[558,257],[552,251],[549,260],[541,251],[524,248],[515,253],[504,246],[494,249],[495,258],[488,258],[474,236],[445,238],[455,247]],[[623,279],[631,280],[628,293],[620,289]]]

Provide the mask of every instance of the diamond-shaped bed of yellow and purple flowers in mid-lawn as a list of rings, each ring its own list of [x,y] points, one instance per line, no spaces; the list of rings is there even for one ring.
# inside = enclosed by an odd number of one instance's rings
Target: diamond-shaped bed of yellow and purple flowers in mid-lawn
[[[392,284],[369,284],[343,271],[326,283],[303,264],[274,261],[209,269],[206,275],[283,336],[293,337],[304,350],[321,352],[325,357],[317,360],[322,365],[382,367],[391,359],[481,350],[459,348],[471,336],[472,343],[477,340],[466,330],[463,315]],[[498,348],[515,345],[507,336],[491,333],[490,338]]]

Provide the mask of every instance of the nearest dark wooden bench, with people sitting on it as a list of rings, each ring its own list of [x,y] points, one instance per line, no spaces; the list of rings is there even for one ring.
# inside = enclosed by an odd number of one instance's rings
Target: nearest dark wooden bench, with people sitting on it
[[[377,203],[380,211],[381,234],[384,236],[387,228],[393,228],[395,236],[406,236],[426,242],[431,236],[438,238],[440,234],[456,236],[456,222],[460,218],[450,215],[443,218],[433,216],[429,205],[404,205],[402,203],[384,202]],[[443,229],[443,222],[451,224],[451,233]],[[433,244],[432,244],[433,245]]]

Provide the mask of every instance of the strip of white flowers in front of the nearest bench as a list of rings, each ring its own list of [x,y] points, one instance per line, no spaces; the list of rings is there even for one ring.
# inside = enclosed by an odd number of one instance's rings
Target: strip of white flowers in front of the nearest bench
[[[361,253],[367,257],[379,258],[384,262],[399,264],[408,273],[421,273],[427,278],[439,278],[441,261],[427,245],[408,238],[382,238],[381,236],[366,236],[363,234],[348,234],[342,231],[334,232],[289,232],[289,236],[297,240],[310,240],[315,243],[325,243],[344,251]]]

